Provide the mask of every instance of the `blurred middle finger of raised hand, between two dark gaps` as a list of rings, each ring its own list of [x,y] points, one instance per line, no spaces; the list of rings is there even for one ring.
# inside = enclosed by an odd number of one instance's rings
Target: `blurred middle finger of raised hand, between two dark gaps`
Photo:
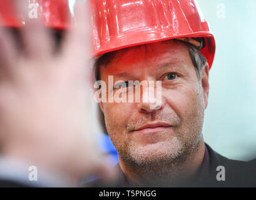
[[[36,4],[28,1],[16,1],[19,14],[24,18],[21,28],[21,42],[24,53],[30,58],[48,58],[53,53],[53,37],[49,29],[44,27]]]

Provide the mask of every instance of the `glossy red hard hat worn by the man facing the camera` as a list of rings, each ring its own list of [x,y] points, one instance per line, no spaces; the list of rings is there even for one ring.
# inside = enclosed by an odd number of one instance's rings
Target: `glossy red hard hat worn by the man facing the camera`
[[[193,0],[93,0],[95,54],[167,39],[204,38],[212,66],[215,39]],[[198,39],[194,40],[197,42]],[[193,42],[192,42],[193,43]]]

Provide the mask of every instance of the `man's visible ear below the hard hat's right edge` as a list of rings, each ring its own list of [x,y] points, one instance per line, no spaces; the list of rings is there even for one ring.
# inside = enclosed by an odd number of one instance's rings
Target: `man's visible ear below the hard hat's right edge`
[[[209,65],[205,65],[205,68],[201,74],[201,84],[203,89],[203,100],[205,101],[205,109],[208,105],[208,96],[209,96]]]

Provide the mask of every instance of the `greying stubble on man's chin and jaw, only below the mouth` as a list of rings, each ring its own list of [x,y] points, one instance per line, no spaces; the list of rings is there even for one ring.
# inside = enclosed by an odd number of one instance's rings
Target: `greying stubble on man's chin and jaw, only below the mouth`
[[[178,133],[178,136],[168,138],[166,141],[145,146],[129,140],[125,142],[125,148],[117,147],[116,150],[122,161],[136,168],[165,166],[166,164],[179,166],[202,141],[202,133],[192,134],[189,138],[182,138],[181,134]]]

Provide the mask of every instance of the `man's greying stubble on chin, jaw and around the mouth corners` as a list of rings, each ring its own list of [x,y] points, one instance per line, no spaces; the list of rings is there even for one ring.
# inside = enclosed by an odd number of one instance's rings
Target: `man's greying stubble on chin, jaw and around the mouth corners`
[[[141,167],[150,167],[158,166],[163,164],[175,164],[176,166],[179,163],[182,163],[198,146],[198,143],[202,140],[202,126],[203,126],[203,113],[198,113],[197,116],[201,115],[201,119],[194,118],[190,121],[189,124],[183,124],[182,119],[178,116],[173,115],[170,118],[167,114],[161,114],[160,119],[166,119],[170,124],[174,124],[173,133],[163,132],[157,133],[156,138],[160,138],[161,134],[163,136],[170,135],[163,141],[158,141],[152,144],[140,144],[138,141],[135,141],[132,134],[127,133],[126,129],[133,129],[136,127],[136,124],[143,124],[140,120],[136,123],[130,123],[129,126],[126,126],[125,138],[123,138],[123,143],[116,140],[115,136],[119,134],[113,134],[113,138],[110,135],[112,141],[118,141],[115,143],[116,150],[120,158],[125,161],[125,163],[130,166],[141,166]],[[169,118],[169,119],[168,119]],[[141,119],[144,121],[144,119]]]

